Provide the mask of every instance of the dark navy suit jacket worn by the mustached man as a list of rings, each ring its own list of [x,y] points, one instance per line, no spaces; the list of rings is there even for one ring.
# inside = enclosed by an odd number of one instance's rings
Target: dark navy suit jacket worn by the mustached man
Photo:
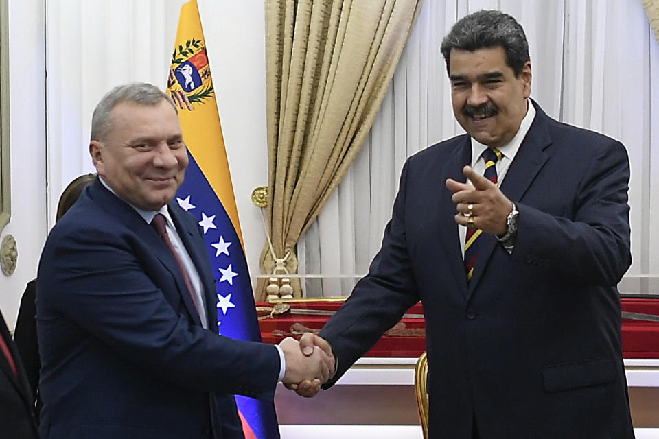
[[[512,254],[479,237],[467,283],[446,178],[470,137],[411,156],[369,274],[325,325],[333,383],[417,300],[431,438],[630,438],[616,285],[631,263],[629,162],[601,134],[537,114],[500,189],[518,206]]]

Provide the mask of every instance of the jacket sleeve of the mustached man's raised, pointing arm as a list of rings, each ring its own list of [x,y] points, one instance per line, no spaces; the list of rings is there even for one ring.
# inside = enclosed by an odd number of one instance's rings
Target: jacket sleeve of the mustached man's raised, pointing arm
[[[575,283],[616,285],[632,263],[628,190],[627,152],[608,139],[584,167],[572,217],[518,203],[513,261],[550,268]]]

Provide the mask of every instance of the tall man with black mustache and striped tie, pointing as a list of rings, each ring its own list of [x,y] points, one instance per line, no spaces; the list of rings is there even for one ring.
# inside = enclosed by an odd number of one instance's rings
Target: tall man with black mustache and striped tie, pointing
[[[430,438],[633,438],[625,147],[530,99],[513,17],[465,16],[441,51],[467,134],[408,158],[369,274],[301,346],[331,346],[332,385],[421,300]]]

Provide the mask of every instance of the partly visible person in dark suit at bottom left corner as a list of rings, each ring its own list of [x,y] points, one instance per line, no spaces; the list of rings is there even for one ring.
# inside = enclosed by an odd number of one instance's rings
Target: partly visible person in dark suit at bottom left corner
[[[38,439],[37,431],[30,383],[0,313],[0,437]]]

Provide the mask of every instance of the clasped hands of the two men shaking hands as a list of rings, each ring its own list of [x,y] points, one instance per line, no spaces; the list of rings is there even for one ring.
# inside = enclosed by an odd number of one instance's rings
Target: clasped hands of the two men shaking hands
[[[286,359],[282,382],[300,396],[316,396],[321,385],[334,376],[332,346],[318,335],[305,333],[298,342],[286,337],[279,343]]]

